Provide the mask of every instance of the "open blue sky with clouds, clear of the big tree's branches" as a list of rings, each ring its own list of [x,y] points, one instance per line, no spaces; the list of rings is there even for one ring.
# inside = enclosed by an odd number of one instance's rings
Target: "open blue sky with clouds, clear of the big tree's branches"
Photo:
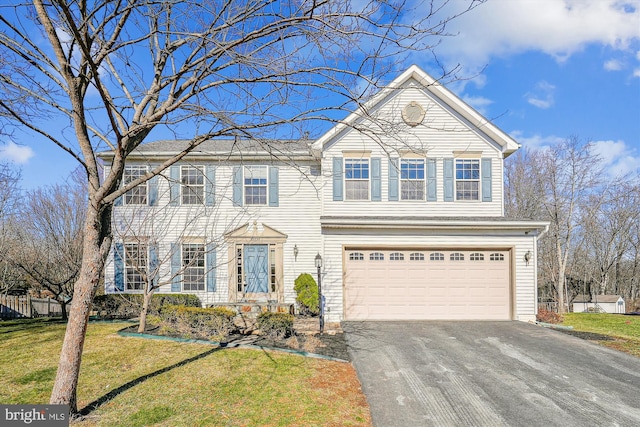
[[[640,0],[488,0],[447,30],[455,36],[436,53],[465,77],[449,88],[523,147],[576,137],[611,176],[640,173]],[[406,67],[432,72],[427,57]],[[20,168],[27,189],[77,166],[37,140],[0,140],[0,161]]]

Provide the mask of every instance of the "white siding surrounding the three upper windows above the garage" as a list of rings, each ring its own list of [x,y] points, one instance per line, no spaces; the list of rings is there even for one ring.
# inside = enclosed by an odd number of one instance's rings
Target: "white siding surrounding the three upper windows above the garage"
[[[402,121],[402,108],[417,101],[426,110],[423,124],[412,128]],[[323,215],[415,215],[415,216],[502,216],[503,170],[502,152],[497,144],[489,141],[477,129],[468,126],[450,109],[439,105],[429,94],[417,88],[396,92],[379,110],[373,112],[379,121],[361,124],[359,128],[373,128],[370,134],[350,130],[337,137],[323,152],[322,170]],[[380,125],[384,123],[384,125]],[[382,201],[333,201],[333,158],[344,157],[343,152],[370,151],[371,157],[381,158]],[[389,157],[401,157],[406,151],[424,154],[436,160],[437,201],[388,201]],[[454,152],[479,153],[491,158],[492,201],[444,202],[443,159],[453,158]]]

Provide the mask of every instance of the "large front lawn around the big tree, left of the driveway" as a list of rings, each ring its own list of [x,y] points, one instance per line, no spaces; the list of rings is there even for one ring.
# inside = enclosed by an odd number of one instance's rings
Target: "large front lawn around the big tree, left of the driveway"
[[[118,336],[125,326],[90,324],[74,425],[371,424],[348,363]],[[0,402],[48,402],[64,328],[0,321]]]

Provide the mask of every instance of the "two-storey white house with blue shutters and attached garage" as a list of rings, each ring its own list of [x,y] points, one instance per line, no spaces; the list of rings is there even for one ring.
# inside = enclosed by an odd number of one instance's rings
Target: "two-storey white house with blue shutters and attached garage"
[[[185,144],[140,146],[125,182]],[[548,223],[504,217],[518,148],[412,66],[315,141],[207,141],[125,194],[106,292],[140,292],[142,265],[205,305],[293,303],[319,254],[328,322],[535,320]]]

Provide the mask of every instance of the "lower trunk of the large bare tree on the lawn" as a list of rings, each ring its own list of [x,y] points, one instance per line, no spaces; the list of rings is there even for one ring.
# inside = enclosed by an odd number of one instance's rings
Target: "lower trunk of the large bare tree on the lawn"
[[[106,221],[106,222],[105,222]],[[78,411],[77,388],[89,312],[111,245],[109,224],[111,210],[92,205],[87,208],[82,266],[73,290],[73,303],[62,344],[58,372],[51,392],[51,404],[69,405],[71,414]]]

